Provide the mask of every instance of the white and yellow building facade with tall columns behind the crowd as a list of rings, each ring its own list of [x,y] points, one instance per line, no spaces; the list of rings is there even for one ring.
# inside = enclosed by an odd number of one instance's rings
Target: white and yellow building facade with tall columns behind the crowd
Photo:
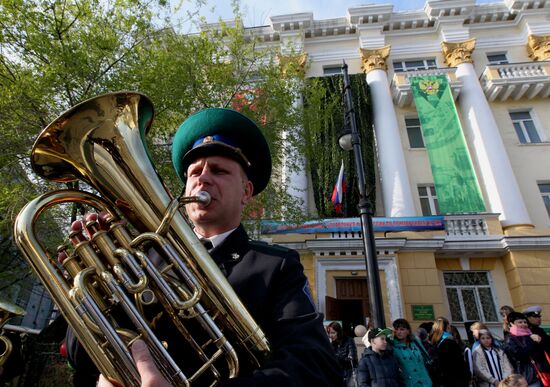
[[[440,233],[377,233],[386,319],[421,320],[415,307],[431,305],[455,322],[497,327],[494,316],[483,316],[487,298],[495,310],[535,302],[550,308],[550,1],[428,0],[413,12],[365,5],[342,13],[330,20],[275,16],[252,30],[283,54],[288,47],[306,54],[308,77],[334,74],[343,60],[351,74],[365,74],[377,149],[376,215],[439,213],[411,90],[410,77],[419,75],[447,77],[486,206],[484,213],[446,216]],[[301,192],[306,171],[293,177]],[[357,235],[271,237],[301,251],[327,315],[327,300],[346,299],[338,279],[365,276]],[[470,294],[461,276],[483,279]]]

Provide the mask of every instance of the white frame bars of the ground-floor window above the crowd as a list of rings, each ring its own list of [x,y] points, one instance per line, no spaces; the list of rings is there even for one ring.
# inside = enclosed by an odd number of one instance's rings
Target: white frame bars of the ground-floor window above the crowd
[[[468,273],[484,273],[487,278],[487,285],[447,285],[445,282],[445,274],[448,273],[459,273],[459,274],[468,274]],[[442,271],[443,276],[443,286],[445,287],[445,297],[447,298],[447,305],[449,307],[449,313],[451,314],[452,322],[457,323],[464,323],[467,321],[476,320],[475,318],[468,318],[467,311],[465,308],[464,303],[464,296],[463,296],[463,290],[474,290],[474,296],[475,296],[475,306],[476,311],[478,314],[478,321],[481,321],[483,323],[496,323],[499,322],[499,315],[498,315],[498,305],[496,300],[496,294],[494,291],[494,283],[491,277],[491,272],[487,270],[444,270]],[[453,310],[451,310],[451,303],[449,302],[449,289],[456,289],[456,293],[458,295],[458,301],[459,301],[459,307],[460,307],[460,315],[461,320],[455,320],[455,313],[453,313]],[[486,311],[485,307],[482,304],[481,296],[479,294],[479,289],[488,289],[490,292],[490,297],[488,298],[489,301],[492,303],[493,306],[493,314],[495,316],[495,320],[488,320],[486,317]]]

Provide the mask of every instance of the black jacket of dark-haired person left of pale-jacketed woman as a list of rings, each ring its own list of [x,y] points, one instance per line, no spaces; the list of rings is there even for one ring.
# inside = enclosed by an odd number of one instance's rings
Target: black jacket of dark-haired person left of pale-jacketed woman
[[[451,337],[440,340],[435,346],[437,371],[434,386],[466,387],[470,383],[470,370],[464,361],[463,352]]]

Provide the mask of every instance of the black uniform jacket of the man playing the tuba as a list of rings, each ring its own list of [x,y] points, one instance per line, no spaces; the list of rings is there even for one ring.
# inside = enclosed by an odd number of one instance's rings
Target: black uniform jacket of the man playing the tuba
[[[341,386],[341,371],[298,253],[251,241],[241,225],[210,254],[266,334],[272,350],[261,368],[244,365],[239,377],[220,386]],[[67,347],[73,364],[80,361],[78,344]]]

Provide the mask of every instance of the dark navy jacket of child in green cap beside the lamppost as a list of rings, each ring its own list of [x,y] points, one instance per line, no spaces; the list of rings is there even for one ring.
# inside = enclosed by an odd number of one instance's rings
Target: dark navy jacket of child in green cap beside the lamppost
[[[382,353],[365,349],[357,367],[359,387],[397,387],[403,386],[400,379],[399,365],[388,349]]]

